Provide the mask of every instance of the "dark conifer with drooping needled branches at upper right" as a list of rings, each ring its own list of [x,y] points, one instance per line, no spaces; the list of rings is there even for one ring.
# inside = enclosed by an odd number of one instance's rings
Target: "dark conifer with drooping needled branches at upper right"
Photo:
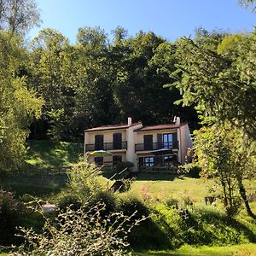
[[[172,77],[183,106],[195,105],[204,122],[229,120],[256,137],[255,34],[209,35],[177,41]]]

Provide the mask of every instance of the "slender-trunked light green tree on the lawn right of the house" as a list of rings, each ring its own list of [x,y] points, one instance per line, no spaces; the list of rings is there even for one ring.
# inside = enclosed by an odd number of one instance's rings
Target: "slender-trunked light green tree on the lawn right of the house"
[[[247,201],[245,179],[255,178],[255,143],[245,143],[244,133],[233,125],[212,125],[195,132],[195,160],[204,177],[214,177],[222,187],[225,210],[230,217],[236,214],[240,194],[247,214],[256,218]]]

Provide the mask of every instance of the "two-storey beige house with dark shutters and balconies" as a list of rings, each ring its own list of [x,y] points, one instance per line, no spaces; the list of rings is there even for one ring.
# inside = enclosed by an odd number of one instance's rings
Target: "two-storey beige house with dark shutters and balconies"
[[[137,171],[175,172],[185,162],[188,149],[192,148],[189,125],[176,118],[166,125],[143,126],[142,122],[105,125],[84,131],[84,154],[99,166],[114,166],[120,161],[130,161]],[[90,152],[106,150],[106,156]]]

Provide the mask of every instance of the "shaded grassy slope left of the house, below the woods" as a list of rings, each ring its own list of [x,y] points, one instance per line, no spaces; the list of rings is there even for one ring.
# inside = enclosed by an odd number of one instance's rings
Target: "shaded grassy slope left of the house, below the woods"
[[[0,187],[23,194],[49,195],[59,192],[67,184],[67,175],[49,168],[73,166],[83,153],[83,144],[28,141],[23,171],[17,176],[1,177]]]

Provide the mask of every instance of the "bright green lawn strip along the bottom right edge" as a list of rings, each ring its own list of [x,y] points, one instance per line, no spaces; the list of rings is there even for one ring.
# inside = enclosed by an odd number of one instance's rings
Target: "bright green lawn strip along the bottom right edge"
[[[256,255],[256,244],[242,244],[229,247],[191,247],[183,246],[176,251],[160,251],[160,252],[145,252],[135,253],[137,256],[167,256],[167,255],[209,255],[209,256],[255,256]]]

